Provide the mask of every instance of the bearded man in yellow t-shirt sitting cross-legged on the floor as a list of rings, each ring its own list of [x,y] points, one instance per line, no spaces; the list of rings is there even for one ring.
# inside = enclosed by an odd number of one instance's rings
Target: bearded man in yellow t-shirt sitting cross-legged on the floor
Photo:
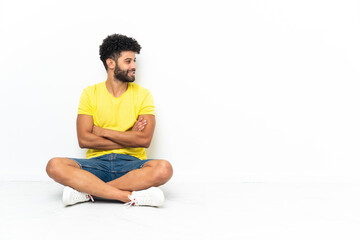
[[[53,158],[47,174],[65,185],[63,203],[93,201],[92,196],[129,205],[161,206],[158,186],[172,176],[165,160],[146,160],[145,148],[155,129],[155,108],[150,92],[133,83],[141,46],[124,35],[113,34],[100,46],[107,71],[105,82],[84,89],[77,116],[77,136],[86,159]]]

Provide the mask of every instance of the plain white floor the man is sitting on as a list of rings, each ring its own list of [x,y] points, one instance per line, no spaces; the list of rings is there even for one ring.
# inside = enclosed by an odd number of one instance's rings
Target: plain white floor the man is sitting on
[[[179,183],[164,207],[64,207],[55,182],[0,182],[0,239],[360,239],[360,185]]]

